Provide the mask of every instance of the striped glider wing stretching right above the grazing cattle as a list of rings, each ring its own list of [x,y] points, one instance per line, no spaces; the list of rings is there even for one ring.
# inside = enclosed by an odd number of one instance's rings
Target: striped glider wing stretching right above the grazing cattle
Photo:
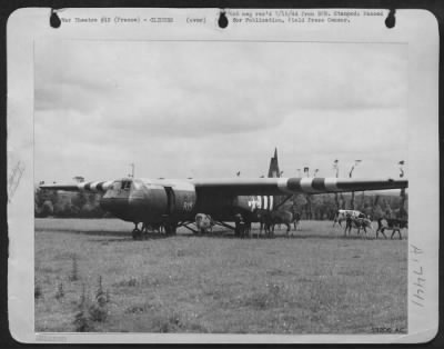
[[[223,178],[193,179],[199,192],[248,195],[326,193],[363,190],[403,189],[406,179],[352,179],[352,178]]]

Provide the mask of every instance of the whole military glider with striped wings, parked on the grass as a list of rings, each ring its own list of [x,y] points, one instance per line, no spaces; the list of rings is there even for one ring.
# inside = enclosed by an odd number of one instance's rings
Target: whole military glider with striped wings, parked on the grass
[[[268,178],[144,179],[121,178],[109,181],[41,185],[43,190],[102,193],[100,206],[117,218],[134,223],[132,236],[139,239],[139,223],[163,226],[167,235],[194,222],[196,213],[210,215],[215,223],[242,215],[258,221],[258,211],[279,210],[296,193],[329,193],[407,188],[406,179],[282,178],[278,153],[271,158]]]

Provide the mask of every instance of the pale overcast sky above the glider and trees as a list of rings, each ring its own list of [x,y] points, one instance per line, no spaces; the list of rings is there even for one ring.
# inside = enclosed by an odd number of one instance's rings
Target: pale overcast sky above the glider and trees
[[[38,41],[34,178],[397,177],[403,44]]]

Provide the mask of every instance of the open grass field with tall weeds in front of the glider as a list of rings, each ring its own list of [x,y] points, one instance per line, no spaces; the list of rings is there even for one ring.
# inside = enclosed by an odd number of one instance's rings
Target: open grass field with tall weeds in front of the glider
[[[90,331],[406,332],[406,232],[364,240],[329,221],[301,226],[293,238],[133,241],[114,219],[37,219],[36,331],[75,331],[83,316]],[[97,306],[99,277],[103,316],[80,313],[82,293],[82,309]]]

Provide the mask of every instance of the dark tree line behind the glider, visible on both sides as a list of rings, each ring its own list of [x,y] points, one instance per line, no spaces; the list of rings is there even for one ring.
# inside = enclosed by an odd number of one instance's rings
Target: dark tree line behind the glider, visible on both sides
[[[100,193],[65,192],[56,190],[34,190],[34,217],[57,218],[107,218],[110,213],[100,208]],[[285,206],[293,206],[293,210],[301,213],[306,220],[332,220],[337,209],[356,209],[373,219],[406,218],[408,196],[369,195],[355,192],[346,195],[295,195]]]

